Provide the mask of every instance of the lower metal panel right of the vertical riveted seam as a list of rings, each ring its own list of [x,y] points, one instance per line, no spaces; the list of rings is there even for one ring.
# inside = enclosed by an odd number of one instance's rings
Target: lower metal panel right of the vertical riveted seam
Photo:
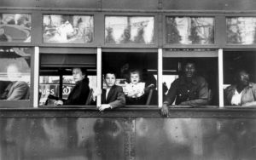
[[[255,119],[137,118],[136,159],[255,159]]]

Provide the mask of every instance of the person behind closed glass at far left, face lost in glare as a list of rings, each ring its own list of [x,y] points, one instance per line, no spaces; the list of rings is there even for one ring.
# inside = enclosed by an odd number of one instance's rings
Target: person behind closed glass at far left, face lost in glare
[[[7,67],[7,76],[9,78],[9,85],[4,89],[1,95],[1,100],[27,100],[29,97],[29,87],[24,81],[19,81],[21,73],[19,67],[11,64]]]

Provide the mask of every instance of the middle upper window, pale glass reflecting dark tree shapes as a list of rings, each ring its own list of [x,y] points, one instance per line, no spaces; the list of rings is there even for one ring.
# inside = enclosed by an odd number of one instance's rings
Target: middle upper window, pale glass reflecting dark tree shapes
[[[154,43],[154,17],[107,16],[106,43]]]

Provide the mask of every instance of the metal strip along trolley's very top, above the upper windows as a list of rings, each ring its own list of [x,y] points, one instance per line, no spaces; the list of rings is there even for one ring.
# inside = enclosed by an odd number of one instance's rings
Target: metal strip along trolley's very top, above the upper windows
[[[254,0],[1,0],[1,7],[52,9],[255,10]]]

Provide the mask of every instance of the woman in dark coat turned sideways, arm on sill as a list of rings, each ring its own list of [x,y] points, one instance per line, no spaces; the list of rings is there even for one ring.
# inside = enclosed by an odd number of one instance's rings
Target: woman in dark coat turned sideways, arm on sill
[[[73,81],[76,83],[67,100],[55,100],[56,106],[85,105],[90,93],[89,79],[84,68],[73,68]]]

